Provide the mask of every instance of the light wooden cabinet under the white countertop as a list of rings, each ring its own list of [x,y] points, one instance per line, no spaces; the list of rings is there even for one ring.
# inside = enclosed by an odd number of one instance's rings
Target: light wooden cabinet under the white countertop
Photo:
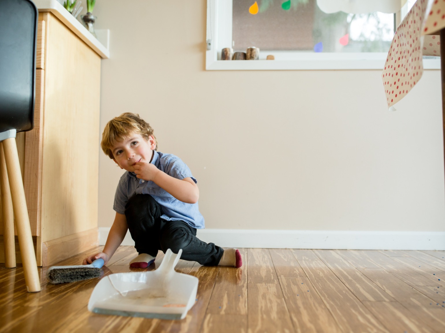
[[[40,12],[35,127],[17,135],[39,266],[98,245],[100,79],[101,56],[53,13]]]

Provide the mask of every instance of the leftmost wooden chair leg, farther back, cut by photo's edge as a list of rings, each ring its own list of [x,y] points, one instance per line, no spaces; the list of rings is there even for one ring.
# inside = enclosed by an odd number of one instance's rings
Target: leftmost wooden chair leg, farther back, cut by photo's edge
[[[1,204],[3,213],[3,243],[4,266],[16,267],[16,242],[14,238],[14,214],[12,212],[12,198],[9,189],[8,171],[4,159],[3,143],[0,142],[0,175],[1,175]]]

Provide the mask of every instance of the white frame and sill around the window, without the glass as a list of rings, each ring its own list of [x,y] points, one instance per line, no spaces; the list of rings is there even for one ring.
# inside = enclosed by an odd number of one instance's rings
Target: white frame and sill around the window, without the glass
[[[236,0],[235,0],[236,1]],[[406,5],[405,5],[406,6]],[[401,14],[405,16],[406,9]],[[398,20],[400,22],[400,19]],[[388,52],[261,52],[259,60],[218,60],[232,45],[232,0],[207,0],[206,70],[383,70]],[[209,43],[210,40],[210,43]],[[266,60],[268,54],[275,60]],[[440,69],[440,58],[423,59],[424,69]]]

